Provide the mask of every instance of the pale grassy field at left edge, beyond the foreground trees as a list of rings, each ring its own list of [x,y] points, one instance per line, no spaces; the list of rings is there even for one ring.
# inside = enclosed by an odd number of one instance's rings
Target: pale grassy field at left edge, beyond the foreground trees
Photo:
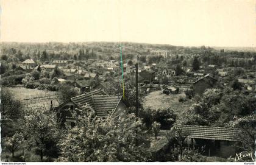
[[[55,91],[43,91],[23,87],[7,88],[7,90],[9,90],[16,99],[21,100],[23,105],[27,107],[43,105],[46,108],[49,108],[51,100],[54,107],[59,105],[59,102],[57,101],[57,92]]]

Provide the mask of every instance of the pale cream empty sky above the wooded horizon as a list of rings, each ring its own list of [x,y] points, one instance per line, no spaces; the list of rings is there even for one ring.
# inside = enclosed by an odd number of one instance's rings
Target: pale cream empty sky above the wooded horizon
[[[0,41],[256,47],[255,0],[1,0]]]

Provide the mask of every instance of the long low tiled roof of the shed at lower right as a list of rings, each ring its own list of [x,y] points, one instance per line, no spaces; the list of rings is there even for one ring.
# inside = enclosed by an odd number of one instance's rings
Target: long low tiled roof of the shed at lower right
[[[207,127],[199,125],[177,125],[176,130],[187,132],[187,138],[238,141],[241,130],[237,128]]]

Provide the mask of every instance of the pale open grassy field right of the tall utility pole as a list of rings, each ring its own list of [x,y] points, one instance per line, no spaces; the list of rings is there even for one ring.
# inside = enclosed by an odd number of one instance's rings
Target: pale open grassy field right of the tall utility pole
[[[190,100],[179,102],[180,97],[186,97],[185,93],[169,94],[169,96],[167,96],[163,94],[162,91],[154,91],[144,98],[143,107],[153,109],[171,107],[179,115],[191,105]]]

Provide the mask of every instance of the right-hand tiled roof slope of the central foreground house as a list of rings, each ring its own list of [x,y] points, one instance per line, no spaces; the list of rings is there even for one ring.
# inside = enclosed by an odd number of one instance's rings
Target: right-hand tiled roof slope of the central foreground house
[[[120,96],[92,95],[94,110],[97,116],[107,116],[116,109]]]

